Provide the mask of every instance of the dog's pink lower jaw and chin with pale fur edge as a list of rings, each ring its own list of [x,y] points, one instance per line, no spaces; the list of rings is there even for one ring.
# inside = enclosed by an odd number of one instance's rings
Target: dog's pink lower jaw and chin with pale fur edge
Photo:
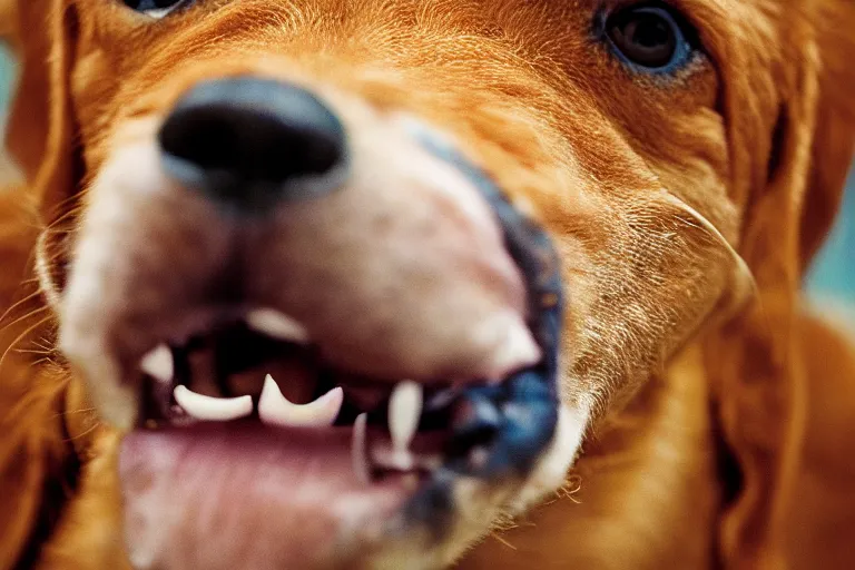
[[[136,568],[442,568],[558,489],[588,411],[562,406],[524,480],[450,478],[444,520],[413,517],[430,483],[354,476],[350,430],[204,425],[130,433],[120,455],[125,535]],[[440,512],[440,511],[436,511]]]

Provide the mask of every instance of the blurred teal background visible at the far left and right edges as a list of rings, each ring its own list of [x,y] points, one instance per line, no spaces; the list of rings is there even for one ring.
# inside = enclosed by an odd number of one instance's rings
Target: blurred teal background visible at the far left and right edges
[[[6,119],[12,78],[12,61],[0,48],[0,132]],[[814,263],[806,286],[810,296],[818,301],[835,304],[844,302],[855,306],[855,170],[849,176],[837,225]]]

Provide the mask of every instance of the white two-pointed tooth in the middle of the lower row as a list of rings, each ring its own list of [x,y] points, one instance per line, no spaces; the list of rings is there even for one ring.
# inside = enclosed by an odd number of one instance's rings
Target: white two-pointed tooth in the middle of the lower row
[[[326,428],[335,422],[343,401],[344,392],[334,387],[314,402],[295,404],[282,395],[276,381],[267,374],[258,400],[258,417],[273,425]]]

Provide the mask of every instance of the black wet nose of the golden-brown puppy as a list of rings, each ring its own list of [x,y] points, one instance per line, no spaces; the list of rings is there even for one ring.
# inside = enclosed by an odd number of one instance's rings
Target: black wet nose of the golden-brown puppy
[[[314,95],[267,79],[190,90],[159,134],[167,173],[238,209],[332,191],[346,170],[338,118]]]

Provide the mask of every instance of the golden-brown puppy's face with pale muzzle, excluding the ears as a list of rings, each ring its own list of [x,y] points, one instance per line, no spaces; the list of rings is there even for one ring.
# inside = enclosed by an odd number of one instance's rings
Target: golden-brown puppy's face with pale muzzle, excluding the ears
[[[40,276],[131,562],[441,567],[560,487],[743,296],[776,6],[65,2]]]

